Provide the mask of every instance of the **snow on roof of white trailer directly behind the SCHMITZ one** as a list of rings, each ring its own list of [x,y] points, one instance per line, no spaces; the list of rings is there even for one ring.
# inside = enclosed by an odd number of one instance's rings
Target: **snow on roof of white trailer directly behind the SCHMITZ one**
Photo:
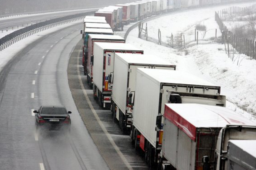
[[[173,66],[170,62],[163,60],[162,58],[149,55],[149,54],[129,54],[129,53],[119,53],[117,54],[120,58],[130,64],[151,64],[151,65],[166,65]]]

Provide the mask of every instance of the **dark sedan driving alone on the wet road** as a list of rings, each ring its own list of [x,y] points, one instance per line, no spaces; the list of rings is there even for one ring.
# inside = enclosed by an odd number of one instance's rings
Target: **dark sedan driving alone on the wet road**
[[[35,113],[36,128],[46,130],[67,130],[70,131],[71,119],[65,106],[42,105]]]

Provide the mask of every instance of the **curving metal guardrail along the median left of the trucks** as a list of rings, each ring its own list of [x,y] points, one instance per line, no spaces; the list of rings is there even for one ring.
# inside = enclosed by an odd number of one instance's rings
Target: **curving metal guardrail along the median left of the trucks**
[[[31,26],[19,29],[17,31],[14,31],[4,37],[2,37],[0,39],[0,51],[2,51],[3,49],[5,49],[6,47],[9,47],[10,45],[12,45],[13,43],[15,43],[17,40],[23,39],[24,37],[33,34],[34,32],[39,32],[41,30],[45,30],[48,29],[49,27],[53,27],[53,26],[57,26],[59,24],[61,24],[61,22],[63,21],[68,21],[68,20],[72,20],[75,18],[81,18],[84,17],[86,15],[93,15],[95,11],[91,11],[91,12],[85,12],[85,13],[80,13],[80,14],[74,14],[74,15],[69,15],[69,16],[65,16],[65,17],[60,17],[60,18],[55,18],[55,19],[51,19],[48,21],[44,21],[44,22],[39,22],[39,23],[35,23]]]

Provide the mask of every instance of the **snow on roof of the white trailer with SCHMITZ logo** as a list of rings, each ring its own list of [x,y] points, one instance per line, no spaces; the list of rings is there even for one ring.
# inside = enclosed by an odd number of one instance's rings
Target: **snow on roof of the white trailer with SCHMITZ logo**
[[[125,43],[104,43],[104,42],[97,42],[95,43],[100,46],[102,49],[105,50],[131,50],[131,51],[143,51],[134,47],[130,44]]]

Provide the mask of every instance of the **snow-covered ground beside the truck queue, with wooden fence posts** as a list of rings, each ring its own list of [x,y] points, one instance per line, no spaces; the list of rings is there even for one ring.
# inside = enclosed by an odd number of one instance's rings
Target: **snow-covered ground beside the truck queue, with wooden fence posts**
[[[252,3],[241,6],[250,5]],[[226,95],[229,101],[227,107],[249,119],[255,120],[256,68],[254,66],[256,61],[250,60],[243,54],[235,55],[232,61],[225,53],[225,46],[212,40],[215,39],[215,29],[218,29],[218,25],[214,20],[214,12],[222,8],[224,7],[184,12],[147,22],[148,36],[157,38],[157,31],[160,28],[162,41],[165,42],[168,41],[166,36],[170,36],[171,32],[174,36],[183,33],[187,42],[193,41],[195,39],[195,26],[198,23],[204,24],[207,27],[203,40],[204,45],[192,46],[185,50],[163,47],[137,38],[138,28],[130,32],[126,42],[140,47],[145,54],[154,54],[175,64],[177,70],[194,73],[220,85],[222,87],[221,94]],[[219,29],[217,36],[221,36]],[[199,37],[199,39],[202,38],[202,36]]]

